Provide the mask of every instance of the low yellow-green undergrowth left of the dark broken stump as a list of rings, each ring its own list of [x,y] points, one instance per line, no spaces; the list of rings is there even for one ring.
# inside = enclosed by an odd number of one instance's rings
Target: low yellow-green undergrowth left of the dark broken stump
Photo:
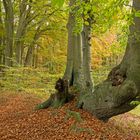
[[[54,85],[62,74],[50,74],[46,69],[10,68],[0,77],[0,89],[24,91],[42,98],[48,98],[55,92]]]

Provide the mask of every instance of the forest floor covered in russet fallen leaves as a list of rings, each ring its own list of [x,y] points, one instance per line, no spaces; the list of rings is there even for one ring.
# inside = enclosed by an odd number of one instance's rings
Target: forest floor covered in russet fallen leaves
[[[103,123],[76,109],[34,111],[43,100],[26,93],[0,93],[0,140],[140,140],[140,116],[126,113]]]

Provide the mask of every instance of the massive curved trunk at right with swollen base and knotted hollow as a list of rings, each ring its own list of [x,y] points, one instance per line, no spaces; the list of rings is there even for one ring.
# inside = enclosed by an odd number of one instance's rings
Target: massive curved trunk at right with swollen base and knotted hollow
[[[133,7],[140,10],[139,0],[133,1]],[[93,94],[87,94],[81,99],[80,108],[91,112],[99,119],[107,120],[136,107],[131,101],[140,96],[139,36],[140,18],[134,17],[122,62],[112,69],[107,80],[95,87]]]

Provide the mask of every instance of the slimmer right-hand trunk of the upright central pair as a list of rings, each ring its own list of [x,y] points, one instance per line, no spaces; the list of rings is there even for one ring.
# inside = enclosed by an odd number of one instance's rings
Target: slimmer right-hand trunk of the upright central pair
[[[85,0],[85,3],[89,3],[89,0]],[[90,10],[87,12],[90,14]],[[83,41],[83,70],[84,78],[86,83],[87,93],[93,90],[93,80],[91,76],[91,30],[93,24],[93,17],[89,15],[88,19],[85,19],[83,15],[83,31],[82,31],[82,41]],[[85,24],[88,22],[88,25]]]

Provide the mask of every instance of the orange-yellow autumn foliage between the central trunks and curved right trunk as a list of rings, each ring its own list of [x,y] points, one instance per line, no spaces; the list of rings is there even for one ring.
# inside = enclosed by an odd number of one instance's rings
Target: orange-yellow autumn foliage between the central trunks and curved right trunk
[[[119,56],[119,43],[117,36],[112,33],[105,33],[102,37],[94,36],[91,39],[91,67],[97,69],[101,67],[107,59],[112,56]]]

